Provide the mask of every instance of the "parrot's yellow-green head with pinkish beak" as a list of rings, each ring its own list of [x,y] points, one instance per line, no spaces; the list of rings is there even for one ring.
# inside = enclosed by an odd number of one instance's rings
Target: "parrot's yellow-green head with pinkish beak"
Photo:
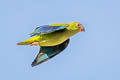
[[[69,23],[69,27],[68,28],[70,30],[75,30],[75,31],[78,31],[78,32],[85,31],[85,28],[79,22],[71,22],[71,23]]]

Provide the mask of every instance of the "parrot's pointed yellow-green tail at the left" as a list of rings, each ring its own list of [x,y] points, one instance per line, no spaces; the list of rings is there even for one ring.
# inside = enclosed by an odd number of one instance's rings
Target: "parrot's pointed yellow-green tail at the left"
[[[33,42],[38,42],[38,41],[39,41],[39,36],[35,36],[35,37],[32,37],[32,38],[25,40],[23,42],[19,42],[19,43],[17,43],[17,45],[30,45]]]

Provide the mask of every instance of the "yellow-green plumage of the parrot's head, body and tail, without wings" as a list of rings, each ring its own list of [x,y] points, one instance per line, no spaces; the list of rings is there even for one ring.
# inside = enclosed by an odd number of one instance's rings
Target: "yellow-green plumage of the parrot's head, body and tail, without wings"
[[[66,25],[67,27],[65,29],[57,30],[48,34],[38,34],[28,40],[18,43],[18,45],[30,45],[33,42],[39,42],[40,46],[55,46],[61,44],[62,42],[79,32],[80,27],[82,26],[77,26],[77,24],[80,23],[72,22],[68,24],[51,24],[51,26],[53,27],[63,25]]]

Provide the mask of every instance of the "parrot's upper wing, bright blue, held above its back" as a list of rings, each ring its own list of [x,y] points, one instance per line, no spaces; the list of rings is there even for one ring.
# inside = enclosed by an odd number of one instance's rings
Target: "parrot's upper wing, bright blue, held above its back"
[[[32,36],[39,35],[39,34],[47,34],[47,33],[51,33],[54,31],[65,29],[66,27],[67,27],[66,25],[63,25],[63,26],[43,25],[43,26],[37,27],[30,34],[30,36],[32,37]]]

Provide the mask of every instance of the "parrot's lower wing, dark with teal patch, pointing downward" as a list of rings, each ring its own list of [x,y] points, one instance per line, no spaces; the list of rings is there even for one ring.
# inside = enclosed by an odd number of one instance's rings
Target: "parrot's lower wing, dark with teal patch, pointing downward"
[[[69,39],[56,46],[41,47],[40,51],[32,63],[32,67],[41,64],[63,51],[69,43]]]

